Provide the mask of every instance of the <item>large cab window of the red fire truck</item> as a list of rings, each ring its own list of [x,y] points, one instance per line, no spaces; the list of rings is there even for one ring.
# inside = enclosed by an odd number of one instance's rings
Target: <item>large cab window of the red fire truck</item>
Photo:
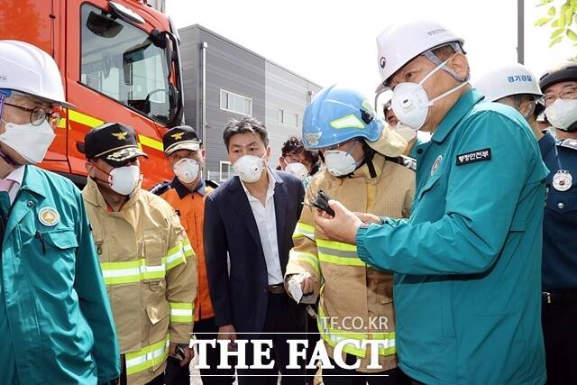
[[[167,41],[82,5],[80,82],[162,125],[170,103]]]

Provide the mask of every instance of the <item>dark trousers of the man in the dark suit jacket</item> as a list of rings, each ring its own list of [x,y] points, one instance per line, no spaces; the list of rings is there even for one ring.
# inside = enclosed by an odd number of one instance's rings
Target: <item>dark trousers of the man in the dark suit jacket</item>
[[[305,335],[291,335],[292,333],[303,333],[304,328],[298,326],[293,312],[289,310],[289,298],[286,294],[269,294],[269,302],[267,307],[267,315],[264,323],[262,334],[258,339],[272,340],[272,349],[270,350],[270,358],[274,360],[275,365],[272,369],[238,369],[239,385],[277,385],[279,371],[282,379],[282,385],[303,385],[306,382],[305,370],[289,370],[289,344],[288,339],[306,339]],[[302,314],[304,317],[305,315]],[[303,318],[304,319],[304,318]],[[302,321],[302,320],[301,320]],[[303,322],[301,322],[303,324]],[[279,334],[282,333],[282,334]],[[237,335],[238,336],[238,335]],[[239,338],[255,338],[255,335],[243,335]],[[253,346],[246,345],[246,363],[252,364]],[[269,363],[266,359],[262,359],[263,364]],[[298,365],[301,368],[305,367],[304,361],[299,361]]]

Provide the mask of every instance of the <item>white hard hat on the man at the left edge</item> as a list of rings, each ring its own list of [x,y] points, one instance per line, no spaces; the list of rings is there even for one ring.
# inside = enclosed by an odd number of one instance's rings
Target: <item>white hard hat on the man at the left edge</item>
[[[24,41],[0,40],[0,88],[76,108],[66,101],[56,62],[48,53]]]

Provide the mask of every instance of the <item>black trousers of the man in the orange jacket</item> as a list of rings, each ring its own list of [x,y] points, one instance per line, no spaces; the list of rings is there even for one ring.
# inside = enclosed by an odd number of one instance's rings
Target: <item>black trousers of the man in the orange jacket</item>
[[[215,340],[218,335],[218,326],[215,324],[215,318],[206,318],[195,322],[194,331],[198,340]],[[200,370],[203,385],[231,385],[234,382],[234,368],[217,369],[216,366],[219,362],[218,345],[216,345],[216,348],[206,346],[206,363],[210,369]],[[190,385],[188,365],[181,367],[178,360],[169,357],[164,380],[166,385]]]

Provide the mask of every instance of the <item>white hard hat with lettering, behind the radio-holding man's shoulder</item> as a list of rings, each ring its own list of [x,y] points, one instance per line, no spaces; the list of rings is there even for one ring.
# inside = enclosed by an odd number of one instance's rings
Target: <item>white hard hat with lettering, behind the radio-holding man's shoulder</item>
[[[484,74],[475,83],[485,100],[494,102],[513,95],[543,96],[535,75],[522,64],[508,64]]]

